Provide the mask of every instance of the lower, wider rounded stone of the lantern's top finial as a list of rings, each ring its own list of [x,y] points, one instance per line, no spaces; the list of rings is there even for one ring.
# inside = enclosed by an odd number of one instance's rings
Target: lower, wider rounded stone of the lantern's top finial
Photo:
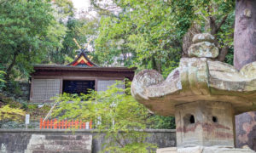
[[[211,42],[198,42],[192,44],[188,50],[189,57],[217,58],[218,48]]]

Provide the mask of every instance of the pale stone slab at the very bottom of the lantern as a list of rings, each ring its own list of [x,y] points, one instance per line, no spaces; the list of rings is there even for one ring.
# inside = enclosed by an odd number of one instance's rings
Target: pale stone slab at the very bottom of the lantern
[[[170,147],[170,148],[160,148],[156,150],[156,153],[255,153],[255,151],[249,148],[238,149],[229,148],[224,146],[191,146],[184,148]]]

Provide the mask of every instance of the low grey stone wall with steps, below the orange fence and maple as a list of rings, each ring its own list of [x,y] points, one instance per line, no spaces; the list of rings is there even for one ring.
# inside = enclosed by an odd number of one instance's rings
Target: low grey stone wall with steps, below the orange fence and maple
[[[75,133],[60,129],[0,129],[0,152],[92,152],[102,149],[108,143],[104,133],[92,133],[93,130],[77,130]],[[158,148],[176,146],[175,130],[148,129],[147,142],[158,144]],[[49,151],[50,150],[50,151]]]

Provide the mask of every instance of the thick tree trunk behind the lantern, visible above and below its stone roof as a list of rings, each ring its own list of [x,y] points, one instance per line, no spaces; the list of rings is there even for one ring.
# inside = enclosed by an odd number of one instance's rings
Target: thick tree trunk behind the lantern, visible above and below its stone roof
[[[256,0],[236,0],[234,48],[237,70],[256,61]],[[253,133],[256,133],[256,112],[236,116],[236,146],[248,145],[256,150]]]

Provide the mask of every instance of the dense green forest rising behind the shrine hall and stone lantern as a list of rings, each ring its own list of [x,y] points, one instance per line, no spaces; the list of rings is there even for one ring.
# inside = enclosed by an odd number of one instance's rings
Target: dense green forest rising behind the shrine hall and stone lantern
[[[90,42],[93,61],[102,66],[154,69],[164,77],[178,66],[196,33],[209,32],[218,60],[233,65],[233,0],[90,0],[76,14],[71,0],[0,0],[0,88],[29,79],[33,65],[67,64],[79,44]],[[79,16],[79,17],[78,17]],[[171,128],[157,116],[155,128]]]

